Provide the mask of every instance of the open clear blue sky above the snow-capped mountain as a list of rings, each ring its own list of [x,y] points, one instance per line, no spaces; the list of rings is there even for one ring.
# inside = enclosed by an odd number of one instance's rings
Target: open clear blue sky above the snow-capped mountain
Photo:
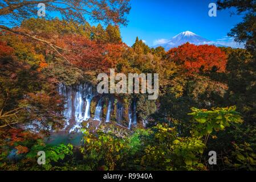
[[[148,46],[170,39],[183,31],[192,31],[213,42],[235,47],[227,32],[242,21],[232,10],[217,11],[217,17],[208,15],[209,3],[215,0],[131,0],[127,27],[121,27],[121,36],[129,46],[136,36]]]

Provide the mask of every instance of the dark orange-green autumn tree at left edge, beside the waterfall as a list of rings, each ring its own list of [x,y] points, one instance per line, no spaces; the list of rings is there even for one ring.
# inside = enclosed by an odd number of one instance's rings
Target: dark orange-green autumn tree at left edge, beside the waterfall
[[[32,51],[31,47],[13,48],[1,41],[0,47],[0,128],[30,125],[31,121],[39,121],[41,127],[61,127],[63,101],[56,94],[55,85],[50,80],[46,82],[38,69],[40,63],[23,60],[38,55],[26,51]]]

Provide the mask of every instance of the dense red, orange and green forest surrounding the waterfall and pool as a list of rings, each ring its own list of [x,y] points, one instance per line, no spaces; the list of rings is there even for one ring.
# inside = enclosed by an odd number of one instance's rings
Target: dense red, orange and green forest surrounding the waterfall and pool
[[[125,24],[127,2],[121,13],[107,12],[107,22]],[[231,31],[246,49],[186,43],[165,52],[139,38],[128,47],[117,24],[91,26],[72,14],[62,20],[20,14],[19,26],[0,26],[0,169],[255,170],[255,1],[237,2],[219,5],[246,11]],[[137,117],[147,119],[147,126],[103,124],[97,131],[83,129],[82,146],[46,143],[44,137],[64,125],[65,99],[56,86],[96,85],[97,74],[109,68],[159,73],[156,101],[145,94],[117,94],[125,102],[137,98]],[[22,127],[35,119],[40,121],[35,127],[44,128],[40,133]],[[46,164],[38,165],[38,151],[46,152]],[[209,151],[217,152],[217,165],[209,165]]]

